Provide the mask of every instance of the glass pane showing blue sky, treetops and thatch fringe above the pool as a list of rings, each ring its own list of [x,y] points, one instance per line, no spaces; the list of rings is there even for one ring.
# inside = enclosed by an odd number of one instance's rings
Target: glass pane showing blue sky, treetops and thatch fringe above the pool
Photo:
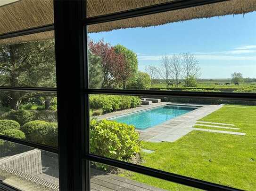
[[[90,87],[255,93],[256,7],[235,2],[87,26]]]

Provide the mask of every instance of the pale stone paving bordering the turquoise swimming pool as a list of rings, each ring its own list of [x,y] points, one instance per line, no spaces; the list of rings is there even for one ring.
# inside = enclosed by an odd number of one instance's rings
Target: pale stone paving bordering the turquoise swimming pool
[[[140,132],[141,140],[149,141],[149,142],[174,142],[179,138],[182,138],[184,135],[188,134],[190,131],[192,131],[193,130],[192,127],[195,125],[195,123],[199,119],[223,107],[223,104],[202,105],[202,104],[181,104],[181,103],[173,103],[173,102],[160,102],[160,103],[152,103],[149,106],[140,106],[140,107],[125,109],[122,111],[108,113],[105,115],[99,115],[95,118],[97,118],[98,120],[110,119],[110,118],[118,117],[121,115],[128,115],[134,112],[151,109],[154,107],[164,106],[167,104],[188,106],[188,107],[195,106],[198,108],[186,114],[175,117],[171,120],[167,120],[154,127],[150,127],[145,130],[136,130]]]

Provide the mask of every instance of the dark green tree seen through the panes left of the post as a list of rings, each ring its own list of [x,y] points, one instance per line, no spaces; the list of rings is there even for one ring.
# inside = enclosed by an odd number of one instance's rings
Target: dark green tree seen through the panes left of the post
[[[54,48],[53,40],[0,46],[0,85],[55,87]],[[54,96],[49,93],[10,91],[5,92],[1,99],[9,103],[11,109],[17,110],[22,100],[38,95],[48,100]]]

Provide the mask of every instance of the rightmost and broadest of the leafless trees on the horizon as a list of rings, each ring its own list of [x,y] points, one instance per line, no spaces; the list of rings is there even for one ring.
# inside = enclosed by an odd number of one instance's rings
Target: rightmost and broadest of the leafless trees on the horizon
[[[188,78],[189,76],[194,76],[198,78],[199,76],[201,76],[199,62],[193,54],[183,53],[182,65],[182,74],[184,78]]]

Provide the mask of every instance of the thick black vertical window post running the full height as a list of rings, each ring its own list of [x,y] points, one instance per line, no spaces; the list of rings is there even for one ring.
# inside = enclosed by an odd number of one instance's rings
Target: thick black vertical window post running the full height
[[[85,176],[84,27],[82,0],[54,0],[59,180],[62,191],[89,190]],[[89,174],[89,173],[87,173]],[[87,180],[86,180],[87,177]],[[86,180],[86,181],[84,181]],[[86,187],[85,187],[86,184]]]

